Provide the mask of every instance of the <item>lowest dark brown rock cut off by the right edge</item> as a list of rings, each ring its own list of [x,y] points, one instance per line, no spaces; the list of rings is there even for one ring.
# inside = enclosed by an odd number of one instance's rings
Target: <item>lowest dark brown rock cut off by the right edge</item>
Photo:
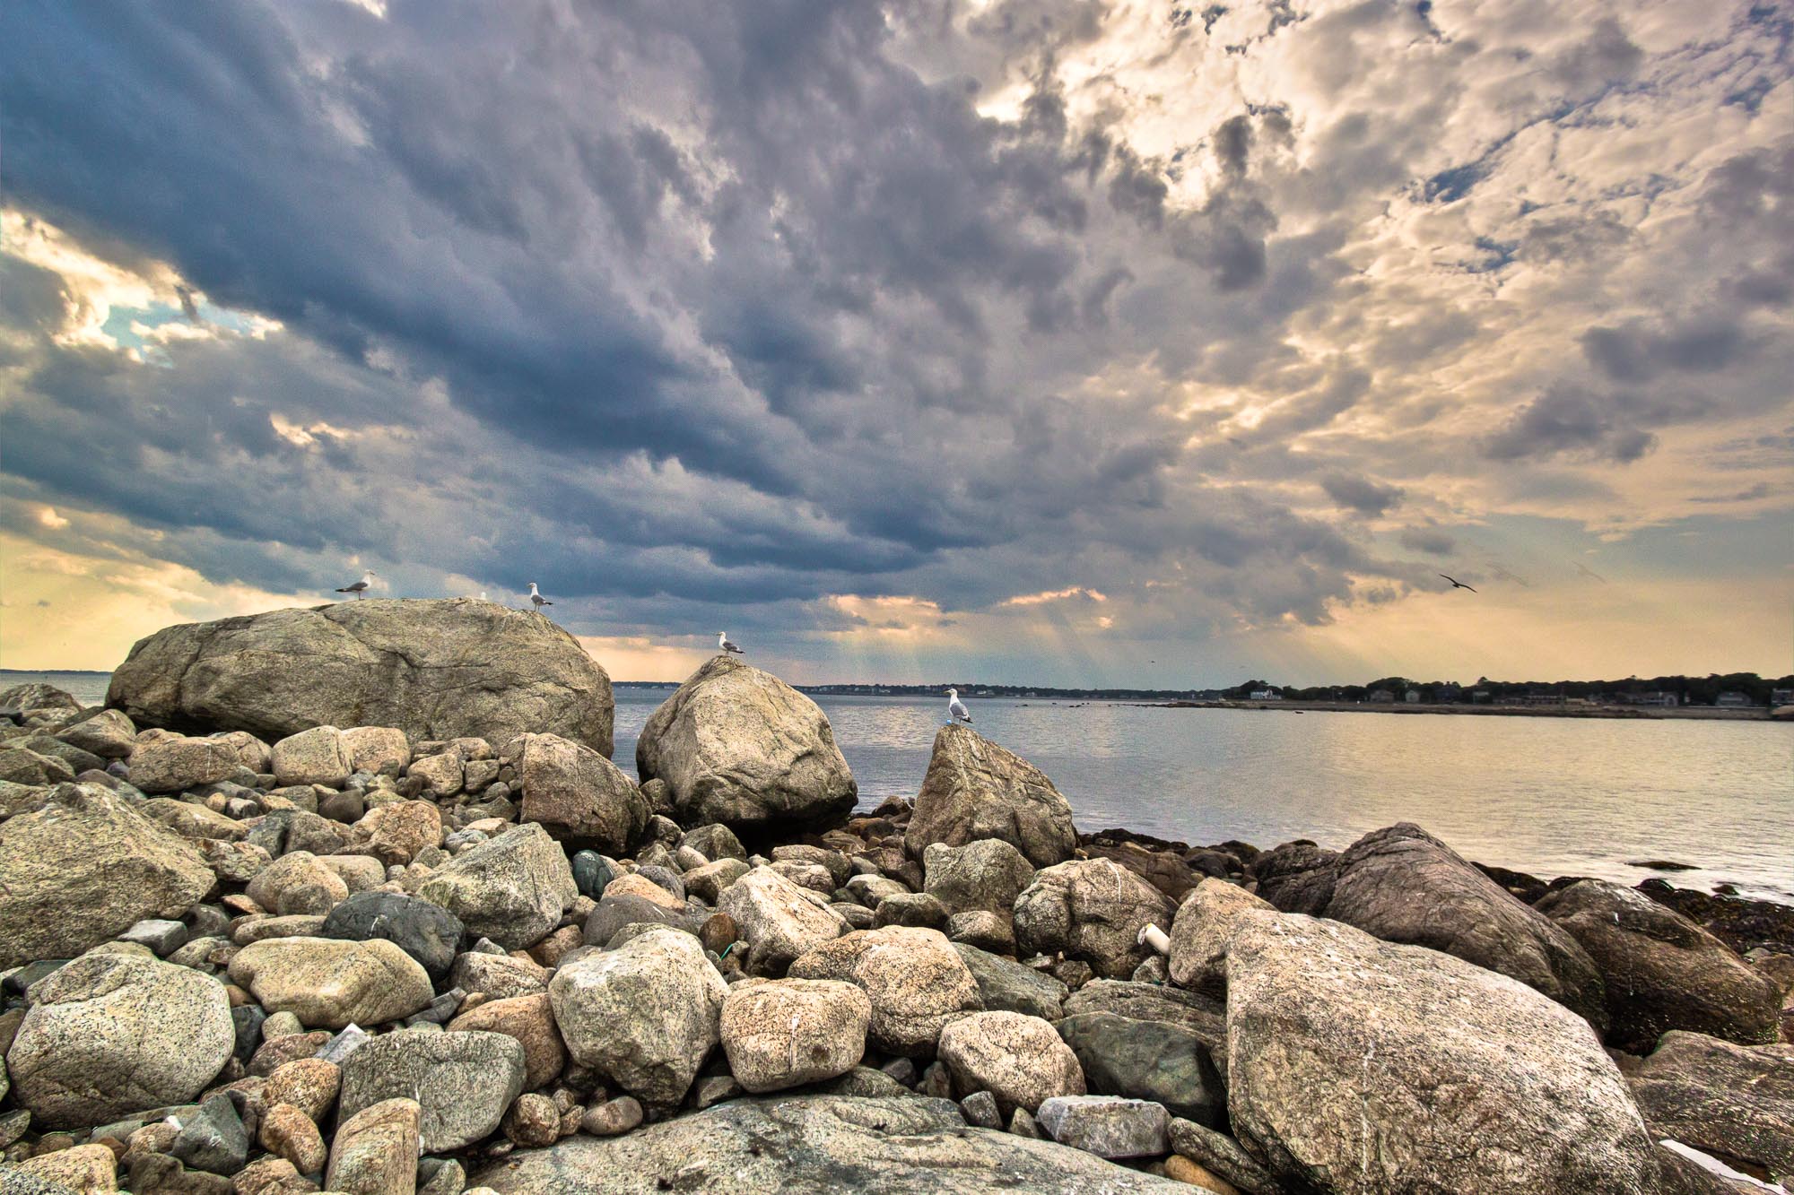
[[[1670,1030],[1625,1080],[1650,1136],[1794,1179],[1794,1044],[1737,1046]]]

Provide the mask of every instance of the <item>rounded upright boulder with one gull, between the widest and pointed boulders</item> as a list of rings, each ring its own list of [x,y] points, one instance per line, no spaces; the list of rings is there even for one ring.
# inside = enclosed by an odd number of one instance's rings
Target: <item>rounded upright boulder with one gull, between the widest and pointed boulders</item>
[[[680,824],[736,831],[827,825],[859,793],[822,709],[727,655],[648,716],[635,772],[666,782]]]

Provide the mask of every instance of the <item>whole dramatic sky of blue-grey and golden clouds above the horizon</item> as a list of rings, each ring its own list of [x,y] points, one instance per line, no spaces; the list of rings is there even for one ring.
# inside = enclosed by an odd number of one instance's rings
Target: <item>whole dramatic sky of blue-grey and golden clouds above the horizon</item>
[[[1790,39],[13,0],[0,664],[371,567],[619,678],[1789,671]]]

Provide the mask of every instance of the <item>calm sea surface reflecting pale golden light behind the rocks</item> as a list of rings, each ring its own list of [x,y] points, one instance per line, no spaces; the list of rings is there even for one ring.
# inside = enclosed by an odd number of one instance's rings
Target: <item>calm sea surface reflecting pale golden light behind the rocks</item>
[[[54,673],[83,702],[106,678]],[[617,764],[673,689],[617,689]],[[942,700],[825,696],[818,703],[861,804],[913,797]],[[1534,876],[1679,886],[1731,881],[1794,901],[1794,727],[1726,721],[1390,716],[971,702],[978,730],[1053,777],[1080,829],[1274,847],[1344,847],[1417,822],[1466,858]],[[1674,859],[1694,872],[1633,861]]]

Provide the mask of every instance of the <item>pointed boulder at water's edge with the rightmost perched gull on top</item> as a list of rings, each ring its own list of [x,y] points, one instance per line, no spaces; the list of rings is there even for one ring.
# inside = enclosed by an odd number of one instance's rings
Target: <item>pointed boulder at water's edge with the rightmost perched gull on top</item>
[[[1001,838],[1035,867],[1064,863],[1078,847],[1071,804],[1046,773],[971,727],[942,727],[922,777],[904,847],[963,847]]]

